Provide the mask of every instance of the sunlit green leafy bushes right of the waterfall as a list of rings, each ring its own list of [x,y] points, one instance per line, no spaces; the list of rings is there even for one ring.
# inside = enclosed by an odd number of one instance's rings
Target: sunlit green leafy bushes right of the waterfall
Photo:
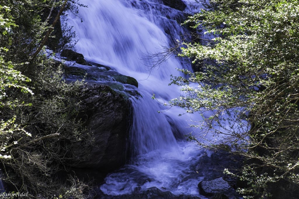
[[[203,6],[186,23],[211,39],[184,43],[180,55],[201,69],[172,77],[183,95],[170,105],[202,115],[201,136],[191,140],[210,149],[229,146],[246,158],[234,174],[247,183],[241,194],[267,198],[282,182],[280,190],[298,194],[299,2],[212,0]]]

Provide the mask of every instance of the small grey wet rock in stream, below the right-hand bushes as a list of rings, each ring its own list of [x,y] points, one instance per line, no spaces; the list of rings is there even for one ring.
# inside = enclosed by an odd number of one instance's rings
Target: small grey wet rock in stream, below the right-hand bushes
[[[201,181],[198,184],[198,189],[199,194],[201,195],[213,197],[221,196],[219,199],[225,199],[225,193],[230,192],[233,188],[228,184],[228,182],[223,180],[223,178],[217,178],[211,181]]]

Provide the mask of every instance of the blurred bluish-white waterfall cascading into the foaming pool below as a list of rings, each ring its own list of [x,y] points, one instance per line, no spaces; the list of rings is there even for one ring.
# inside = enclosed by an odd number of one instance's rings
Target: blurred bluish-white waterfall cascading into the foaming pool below
[[[179,88],[168,86],[170,75],[179,76],[176,68],[188,68],[181,60],[170,57],[151,69],[155,57],[174,39],[184,39],[186,30],[176,20],[180,11],[167,7],[161,0],[80,0],[79,18],[71,18],[79,42],[77,49],[90,61],[108,65],[138,80],[142,98],[133,101],[132,164],[109,174],[100,186],[107,195],[129,194],[155,186],[175,195],[199,195],[197,184],[204,176],[198,173],[201,151],[192,143],[178,141],[191,131],[186,128],[191,115],[178,117],[182,110],[167,107],[151,99],[167,102],[179,96]],[[198,117],[198,115],[193,115]],[[194,118],[196,120],[198,118]],[[176,135],[176,136],[175,136]]]

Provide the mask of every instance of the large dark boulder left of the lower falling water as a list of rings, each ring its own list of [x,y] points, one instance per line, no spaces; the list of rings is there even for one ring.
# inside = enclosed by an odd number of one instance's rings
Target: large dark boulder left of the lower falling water
[[[131,101],[102,84],[84,85],[80,98],[79,116],[87,131],[92,132],[93,141],[74,144],[73,152],[87,157],[75,161],[74,168],[81,172],[111,172],[125,163]]]

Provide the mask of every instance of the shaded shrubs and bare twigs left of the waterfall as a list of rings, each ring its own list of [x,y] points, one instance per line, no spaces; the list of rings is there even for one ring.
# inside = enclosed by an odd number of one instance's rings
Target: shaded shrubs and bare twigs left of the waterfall
[[[45,46],[31,57],[57,16],[53,10],[65,2],[77,12],[80,4],[71,0],[0,0],[0,143],[6,158],[0,160],[1,169],[10,191],[28,192],[29,198],[89,195],[86,184],[67,176],[71,160],[80,156],[68,149],[84,130],[76,119],[76,95],[83,83],[66,83],[62,64]],[[71,28],[65,31],[69,38],[60,41],[73,40]],[[65,177],[58,178],[58,172]]]

